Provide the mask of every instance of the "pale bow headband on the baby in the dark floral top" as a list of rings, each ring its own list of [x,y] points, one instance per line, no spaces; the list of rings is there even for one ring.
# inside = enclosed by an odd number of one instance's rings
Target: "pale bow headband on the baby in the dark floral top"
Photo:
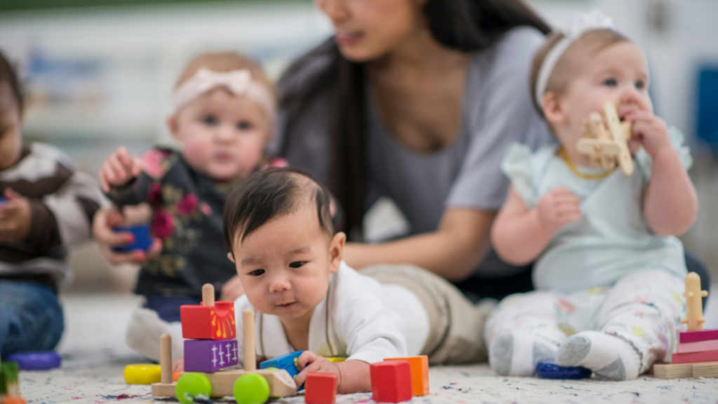
[[[274,98],[265,85],[252,80],[252,74],[248,69],[215,72],[204,67],[200,68],[174,92],[174,112],[179,112],[182,107],[200,95],[218,87],[226,88],[234,95],[242,95],[253,100],[266,113],[269,121],[274,120]]]

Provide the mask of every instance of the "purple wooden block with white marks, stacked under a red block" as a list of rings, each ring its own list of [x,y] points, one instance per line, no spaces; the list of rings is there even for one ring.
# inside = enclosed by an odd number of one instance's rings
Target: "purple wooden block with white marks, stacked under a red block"
[[[238,363],[236,339],[185,341],[185,372],[217,372]]]

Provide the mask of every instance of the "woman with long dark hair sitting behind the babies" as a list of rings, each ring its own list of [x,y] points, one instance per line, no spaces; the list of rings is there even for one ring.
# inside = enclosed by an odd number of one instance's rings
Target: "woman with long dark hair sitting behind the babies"
[[[528,90],[546,23],[521,0],[316,3],[336,34],[282,77],[277,152],[328,184],[350,240],[381,196],[411,226],[400,240],[350,243],[345,260],[413,263],[477,296],[531,288],[530,271],[488,254],[488,235],[505,146],[549,140]]]

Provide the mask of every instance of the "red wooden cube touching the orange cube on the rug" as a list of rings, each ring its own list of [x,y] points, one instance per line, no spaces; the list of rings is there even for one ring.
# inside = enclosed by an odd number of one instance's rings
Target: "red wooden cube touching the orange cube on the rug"
[[[406,360],[373,363],[371,399],[377,403],[398,403],[411,400],[411,367]]]

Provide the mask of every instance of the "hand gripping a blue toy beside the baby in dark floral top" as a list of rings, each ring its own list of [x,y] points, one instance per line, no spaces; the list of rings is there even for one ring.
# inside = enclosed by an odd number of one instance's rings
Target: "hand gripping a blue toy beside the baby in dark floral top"
[[[138,215],[140,210],[143,209],[142,207],[124,207],[124,211],[127,212],[128,215]],[[149,220],[149,216],[147,220]],[[126,223],[125,214],[114,207],[103,208],[95,213],[93,219],[93,237],[110,263],[113,265],[121,263],[143,263],[145,260],[153,258],[162,251],[162,241],[158,238],[154,238],[154,243],[152,243],[147,251],[113,251],[113,247],[121,247],[134,241],[134,236],[131,232],[116,232],[113,230],[113,227],[126,225]]]

